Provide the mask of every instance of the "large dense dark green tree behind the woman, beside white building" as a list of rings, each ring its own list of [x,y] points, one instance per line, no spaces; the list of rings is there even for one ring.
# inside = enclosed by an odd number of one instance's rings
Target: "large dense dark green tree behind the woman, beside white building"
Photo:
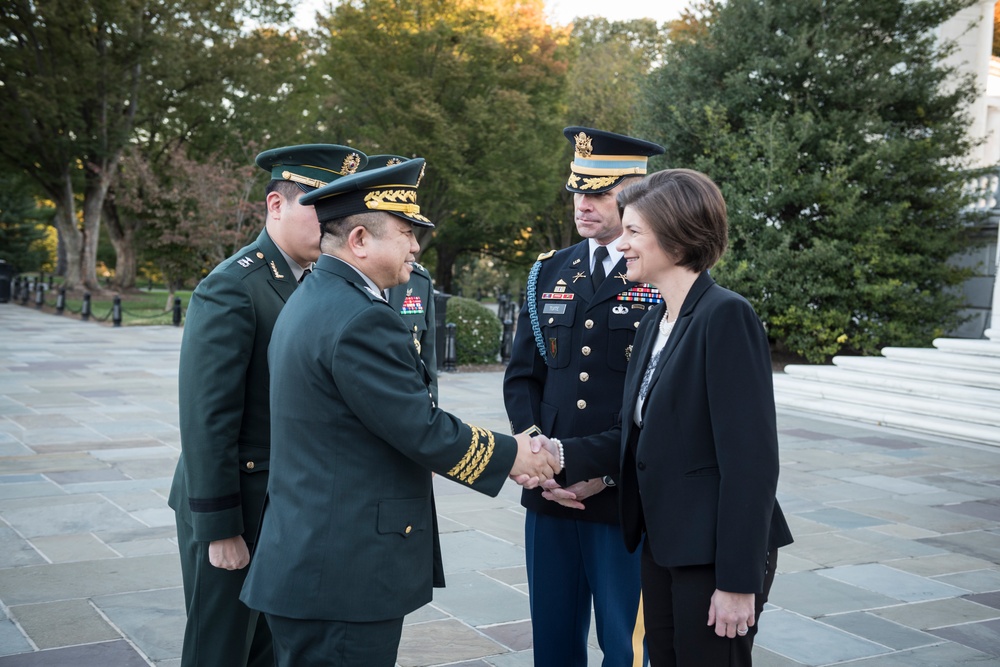
[[[812,361],[925,345],[958,321],[970,79],[935,29],[969,0],[729,0],[649,82],[668,164],[721,186],[713,276]]]

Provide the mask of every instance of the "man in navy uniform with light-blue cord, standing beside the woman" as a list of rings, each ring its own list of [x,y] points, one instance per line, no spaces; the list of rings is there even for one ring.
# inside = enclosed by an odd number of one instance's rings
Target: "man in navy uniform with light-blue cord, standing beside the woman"
[[[615,196],[663,148],[568,127],[577,231],[584,241],[541,255],[518,318],[504,402],[515,433],[566,438],[618,420],[632,341],[656,289],[625,277]],[[536,665],[586,667],[591,600],[604,667],[642,665],[639,555],[622,544],[610,477],[569,488],[575,500],[525,490],[525,558]],[[562,504],[559,504],[562,503]]]

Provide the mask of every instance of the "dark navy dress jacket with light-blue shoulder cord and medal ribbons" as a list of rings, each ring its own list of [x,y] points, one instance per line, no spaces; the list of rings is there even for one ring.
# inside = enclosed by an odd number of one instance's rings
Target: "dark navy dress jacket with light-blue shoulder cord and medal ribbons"
[[[587,241],[539,261],[534,296],[546,358],[526,302],[504,376],[511,428],[520,433],[534,425],[557,438],[600,433],[618,421],[639,321],[661,297],[625,278],[624,258],[595,293]],[[618,523],[617,494],[608,491],[588,498],[584,510],[545,500],[540,489],[523,491],[521,504],[561,518]]]

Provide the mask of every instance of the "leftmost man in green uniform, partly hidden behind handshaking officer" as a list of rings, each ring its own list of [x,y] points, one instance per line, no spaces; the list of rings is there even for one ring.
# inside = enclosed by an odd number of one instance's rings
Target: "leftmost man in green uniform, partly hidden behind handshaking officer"
[[[181,343],[181,456],[169,505],[187,625],[183,667],[273,665],[263,616],[239,600],[267,490],[270,373],[278,313],[319,257],[316,209],[299,197],[364,168],[334,144],[265,151],[271,174],[264,230],[195,289]]]

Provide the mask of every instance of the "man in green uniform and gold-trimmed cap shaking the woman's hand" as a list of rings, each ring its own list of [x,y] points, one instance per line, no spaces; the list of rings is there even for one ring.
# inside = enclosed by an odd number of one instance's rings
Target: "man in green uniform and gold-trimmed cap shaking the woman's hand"
[[[423,164],[303,198],[323,254],[271,340],[271,477],[241,595],[267,616],[279,667],[392,667],[403,616],[443,584],[431,471],[490,495],[508,474],[534,484],[558,471],[526,435],[434,407],[384,298],[409,278],[413,226],[431,225],[416,200]]]

